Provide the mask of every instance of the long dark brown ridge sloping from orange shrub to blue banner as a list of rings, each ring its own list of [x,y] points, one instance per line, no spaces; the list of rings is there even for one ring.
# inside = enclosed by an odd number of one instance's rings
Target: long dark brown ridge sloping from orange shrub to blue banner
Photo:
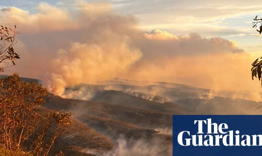
[[[47,109],[66,110],[75,114],[94,115],[125,121],[139,126],[143,125],[144,127],[159,128],[172,126],[172,114],[112,103],[64,99],[49,94],[43,106]]]

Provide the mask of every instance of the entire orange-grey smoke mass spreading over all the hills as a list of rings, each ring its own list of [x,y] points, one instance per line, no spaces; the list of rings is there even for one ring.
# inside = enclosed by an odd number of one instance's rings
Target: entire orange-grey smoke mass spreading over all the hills
[[[72,97],[66,87],[114,77],[260,90],[250,79],[254,58],[235,41],[143,32],[133,16],[117,15],[109,4],[77,2],[68,9],[41,2],[35,13],[14,7],[0,13],[2,25],[23,32],[16,45],[22,59],[7,74],[40,78],[57,95]]]

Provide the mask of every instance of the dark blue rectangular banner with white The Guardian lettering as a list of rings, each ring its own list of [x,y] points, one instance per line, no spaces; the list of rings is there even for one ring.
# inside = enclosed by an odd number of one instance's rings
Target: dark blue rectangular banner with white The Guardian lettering
[[[173,156],[262,155],[262,115],[173,115]]]

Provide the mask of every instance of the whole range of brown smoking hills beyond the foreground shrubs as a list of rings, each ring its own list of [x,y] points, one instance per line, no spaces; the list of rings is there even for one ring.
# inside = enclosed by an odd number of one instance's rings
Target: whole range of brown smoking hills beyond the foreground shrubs
[[[40,82],[30,78],[21,80]],[[250,91],[214,93],[167,82],[115,79],[102,85],[70,86],[65,90],[67,93],[77,96],[70,99],[49,93],[44,108],[38,110],[72,113],[72,125],[56,140],[53,154],[62,150],[66,155],[83,156],[137,154],[138,151],[147,151],[143,155],[172,155],[173,114],[262,113],[262,110],[254,111],[259,102],[247,100],[253,95]]]

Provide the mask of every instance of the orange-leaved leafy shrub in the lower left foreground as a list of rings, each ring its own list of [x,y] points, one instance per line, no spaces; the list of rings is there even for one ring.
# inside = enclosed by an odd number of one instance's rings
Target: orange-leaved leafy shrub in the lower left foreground
[[[59,111],[39,115],[37,109],[45,102],[46,94],[42,85],[21,82],[18,74],[0,79],[0,144],[3,147],[10,151],[25,149],[23,143],[37,135],[29,153],[48,155],[57,136],[70,125],[71,114]],[[44,142],[51,130],[54,134]]]

